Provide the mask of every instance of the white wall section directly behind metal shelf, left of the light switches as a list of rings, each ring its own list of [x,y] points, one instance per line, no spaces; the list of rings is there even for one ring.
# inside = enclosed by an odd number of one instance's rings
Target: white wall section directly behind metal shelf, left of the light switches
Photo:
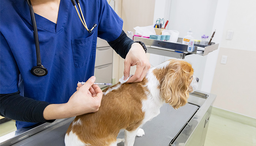
[[[211,36],[212,32],[217,29],[212,42],[219,43],[221,38],[217,34],[222,32],[226,16],[226,7],[222,7],[223,1],[227,0],[222,0],[219,3],[216,0],[156,0],[154,20],[161,18],[163,15],[169,15],[168,18],[165,17],[166,20],[169,20],[167,29],[178,30],[180,32],[179,37],[187,35],[187,31],[190,28],[195,39],[200,39],[200,36],[203,34]],[[163,9],[161,4],[165,5],[165,9]],[[217,21],[223,23],[217,23]],[[200,79],[198,87],[200,91],[211,91],[212,78],[218,57],[218,52],[212,53],[210,53],[211,59],[208,59],[208,61],[207,58],[210,54],[204,57],[199,55],[188,55],[185,57],[185,60],[192,64],[195,75]],[[151,54],[150,63],[155,66],[167,59],[170,59],[170,57]]]

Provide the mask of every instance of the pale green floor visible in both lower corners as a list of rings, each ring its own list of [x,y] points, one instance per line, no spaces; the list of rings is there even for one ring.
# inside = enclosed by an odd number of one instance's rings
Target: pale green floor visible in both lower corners
[[[223,118],[219,116],[219,112],[217,108],[212,109],[204,146],[256,146],[256,127]],[[252,119],[251,122],[255,120]],[[14,130],[14,121],[0,124],[0,136]]]

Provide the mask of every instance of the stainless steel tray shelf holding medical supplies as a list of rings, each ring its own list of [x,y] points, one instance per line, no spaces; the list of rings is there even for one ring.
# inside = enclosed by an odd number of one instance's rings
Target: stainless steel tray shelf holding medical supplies
[[[177,43],[171,43],[167,41],[158,41],[155,39],[148,39],[143,37],[134,37],[134,41],[142,41],[147,46],[147,52],[152,54],[158,54],[163,56],[169,56],[174,58],[184,59],[185,56],[190,54],[207,55],[210,52],[217,50],[219,44],[211,43],[210,46],[199,47],[195,46],[193,52],[188,52],[188,45],[182,44],[182,38],[178,38]]]

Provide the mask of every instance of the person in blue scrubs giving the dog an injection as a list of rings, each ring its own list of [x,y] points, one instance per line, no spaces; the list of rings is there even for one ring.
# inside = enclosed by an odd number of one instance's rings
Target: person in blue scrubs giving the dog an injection
[[[16,120],[17,129],[54,119],[96,112],[102,91],[95,81],[97,37],[108,41],[123,58],[128,82],[142,81],[150,64],[140,43],[122,31],[123,20],[106,0],[80,0],[89,33],[70,0],[31,0],[35,12],[45,76],[37,65],[33,20],[26,0],[1,1],[0,115]],[[107,56],[106,56],[107,57]],[[32,68],[32,69],[31,69]],[[77,87],[78,81],[87,81]]]

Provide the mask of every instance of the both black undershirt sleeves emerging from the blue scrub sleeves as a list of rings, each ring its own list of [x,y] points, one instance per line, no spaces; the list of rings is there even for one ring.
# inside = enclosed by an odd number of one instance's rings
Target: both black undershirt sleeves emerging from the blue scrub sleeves
[[[109,45],[125,58],[134,41],[127,37],[124,31],[114,41],[108,42]],[[53,122],[54,120],[45,120],[43,116],[44,109],[51,103],[37,101],[31,98],[19,95],[19,91],[10,94],[0,94],[0,115],[13,120],[25,122]]]

